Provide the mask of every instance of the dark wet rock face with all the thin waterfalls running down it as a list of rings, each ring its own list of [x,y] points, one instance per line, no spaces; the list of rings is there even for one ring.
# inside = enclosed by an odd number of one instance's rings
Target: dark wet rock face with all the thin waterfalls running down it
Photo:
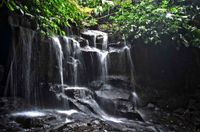
[[[131,86],[132,70],[126,70],[132,68],[129,66],[129,47],[108,48],[108,35],[96,30],[85,31],[83,38],[76,39],[60,36],[40,38],[32,28],[27,28],[30,23],[18,20],[20,18],[9,17],[12,44],[5,76],[7,83],[2,89],[4,96],[22,97],[28,104],[40,107],[74,107],[103,118],[109,116],[106,111],[119,117],[133,114],[135,116],[131,119],[142,120],[129,99],[130,91],[134,90]],[[121,60],[119,67],[112,71],[118,58]],[[92,86],[91,82],[98,81],[102,84]],[[112,91],[105,90],[108,85],[113,87]],[[110,109],[108,105],[119,110]]]

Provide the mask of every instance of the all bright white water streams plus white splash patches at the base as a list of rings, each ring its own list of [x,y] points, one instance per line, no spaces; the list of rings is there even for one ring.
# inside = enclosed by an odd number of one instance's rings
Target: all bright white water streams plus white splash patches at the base
[[[79,77],[81,76],[80,71],[82,69],[80,69],[80,67],[84,67],[84,60],[82,59],[82,52],[95,52],[97,54],[97,58],[95,58],[96,56],[91,55],[91,61],[89,62],[91,63],[91,65],[96,61],[94,59],[97,59],[98,63],[98,79],[103,81],[104,83],[106,82],[106,79],[108,77],[108,62],[109,62],[109,54],[112,52],[117,52],[117,53],[122,53],[122,58],[121,59],[127,59],[129,62],[129,68],[130,68],[130,76],[131,76],[131,82],[134,81],[134,77],[133,77],[133,62],[132,62],[132,58],[131,58],[131,53],[130,53],[130,48],[128,46],[122,47],[122,48],[110,48],[110,50],[107,50],[107,44],[108,44],[108,36],[107,34],[103,34],[101,33],[101,36],[103,36],[103,42],[102,42],[102,49],[98,49],[97,48],[97,33],[96,31],[91,31],[89,32],[89,34],[91,33],[91,35],[94,36],[94,47],[91,47],[89,45],[85,46],[85,47],[80,47],[80,44],[69,37],[63,37],[65,43],[63,44],[63,46],[61,45],[61,42],[59,40],[58,37],[53,37],[52,41],[53,41],[53,51],[56,53],[56,61],[58,63],[58,70],[59,70],[59,77],[60,77],[60,84],[61,84],[61,88],[62,88],[62,92],[57,94],[58,96],[62,96],[64,98],[64,100],[69,100],[72,103],[74,103],[81,111],[85,112],[85,113],[95,113],[97,114],[99,117],[101,117],[101,119],[103,120],[108,120],[108,121],[113,121],[116,123],[121,123],[123,122],[122,119],[118,119],[115,117],[112,117],[110,115],[108,115],[100,106],[99,104],[95,101],[94,97],[93,97],[93,92],[91,90],[89,90],[86,87],[80,87],[79,82],[80,79]],[[31,38],[30,38],[31,39]],[[29,87],[30,85],[30,67],[31,67],[31,47],[26,47],[27,51],[30,54],[27,54],[27,67],[26,67],[26,74],[25,77],[29,80],[27,80],[26,82],[26,86]],[[65,50],[65,52],[63,52]],[[67,58],[64,57],[64,54],[67,54]],[[66,73],[64,73],[64,64],[67,63],[68,65],[72,66],[72,70],[71,71],[67,71],[70,72],[73,78],[73,83],[70,83],[70,87],[64,87],[64,82],[67,82],[67,80],[64,80],[64,75]],[[119,60],[119,64],[120,64],[120,60]],[[122,63],[123,64],[123,63]],[[63,75],[64,74],[64,75]],[[87,73],[90,74],[90,73]],[[65,95],[65,92],[69,91],[69,90],[74,90],[76,92],[76,94],[78,94],[79,96],[76,96],[74,98],[68,97],[67,95]],[[30,89],[27,89],[26,91],[27,93],[27,98],[30,98]],[[136,94],[136,92],[132,92],[133,95],[133,102],[135,103],[134,105],[137,105],[137,100],[138,100],[138,96]],[[108,97],[109,98],[109,97]],[[87,105],[85,105],[87,104]],[[92,110],[91,110],[92,109]],[[71,111],[63,111],[63,110],[58,110],[58,113],[61,114],[73,114],[76,113],[77,111],[71,110]],[[28,111],[28,112],[21,112],[21,113],[15,113],[14,115],[21,115],[21,116],[31,116],[31,117],[36,117],[36,116],[44,116],[45,113],[41,113],[38,111]],[[66,122],[68,122],[68,120],[66,120]]]

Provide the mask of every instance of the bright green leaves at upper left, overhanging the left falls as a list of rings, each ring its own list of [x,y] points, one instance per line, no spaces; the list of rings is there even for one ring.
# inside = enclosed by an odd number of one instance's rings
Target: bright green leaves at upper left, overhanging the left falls
[[[80,26],[86,17],[76,0],[3,0],[2,4],[33,18],[38,30],[47,35],[64,35],[62,27]]]

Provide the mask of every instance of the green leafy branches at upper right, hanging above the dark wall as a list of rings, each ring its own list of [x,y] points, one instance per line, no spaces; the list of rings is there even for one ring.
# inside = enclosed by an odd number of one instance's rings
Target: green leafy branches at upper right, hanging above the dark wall
[[[182,2],[184,0],[177,1],[178,4],[168,0],[141,0],[135,4],[132,0],[125,0],[110,17],[112,31],[132,40],[141,38],[145,43],[159,44],[164,36],[169,36],[185,46],[200,46],[200,29],[191,24],[194,15],[199,13],[199,7],[179,4]]]

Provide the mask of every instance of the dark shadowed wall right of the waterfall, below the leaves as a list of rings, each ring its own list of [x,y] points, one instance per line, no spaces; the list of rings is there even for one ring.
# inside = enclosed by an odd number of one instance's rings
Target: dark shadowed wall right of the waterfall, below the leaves
[[[161,45],[137,41],[132,47],[141,104],[164,108],[186,106],[200,96],[200,49],[165,40]]]

